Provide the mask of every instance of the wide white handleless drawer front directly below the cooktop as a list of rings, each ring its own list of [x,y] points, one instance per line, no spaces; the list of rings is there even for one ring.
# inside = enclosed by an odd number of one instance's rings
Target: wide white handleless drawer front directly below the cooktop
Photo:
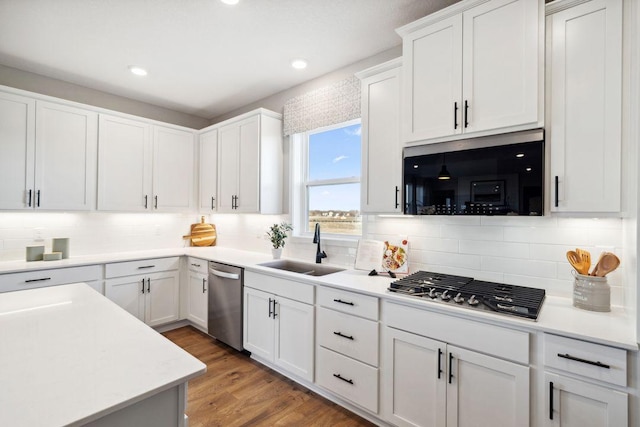
[[[427,309],[385,302],[383,322],[392,328],[514,362],[529,363],[529,334]]]

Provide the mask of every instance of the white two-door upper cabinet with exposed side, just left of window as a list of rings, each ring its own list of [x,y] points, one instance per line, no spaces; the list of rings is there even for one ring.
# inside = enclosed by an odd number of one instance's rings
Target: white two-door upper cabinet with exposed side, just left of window
[[[218,129],[218,212],[282,212],[282,120],[257,110]],[[208,197],[208,196],[207,196]],[[200,205],[210,203],[201,200]]]

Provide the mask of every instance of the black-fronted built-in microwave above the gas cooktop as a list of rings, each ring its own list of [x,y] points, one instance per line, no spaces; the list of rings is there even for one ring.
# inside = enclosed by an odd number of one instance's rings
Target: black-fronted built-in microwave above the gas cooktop
[[[406,147],[404,213],[542,215],[544,131]]]

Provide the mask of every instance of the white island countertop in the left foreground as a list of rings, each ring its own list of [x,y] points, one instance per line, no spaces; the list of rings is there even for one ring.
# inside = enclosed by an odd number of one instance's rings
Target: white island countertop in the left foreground
[[[206,371],[85,284],[0,294],[0,425],[83,424]]]

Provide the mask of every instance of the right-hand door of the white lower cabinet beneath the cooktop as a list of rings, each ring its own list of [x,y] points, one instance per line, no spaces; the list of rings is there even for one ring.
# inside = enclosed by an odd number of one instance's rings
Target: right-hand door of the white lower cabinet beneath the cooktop
[[[447,426],[529,426],[528,366],[447,349]]]

